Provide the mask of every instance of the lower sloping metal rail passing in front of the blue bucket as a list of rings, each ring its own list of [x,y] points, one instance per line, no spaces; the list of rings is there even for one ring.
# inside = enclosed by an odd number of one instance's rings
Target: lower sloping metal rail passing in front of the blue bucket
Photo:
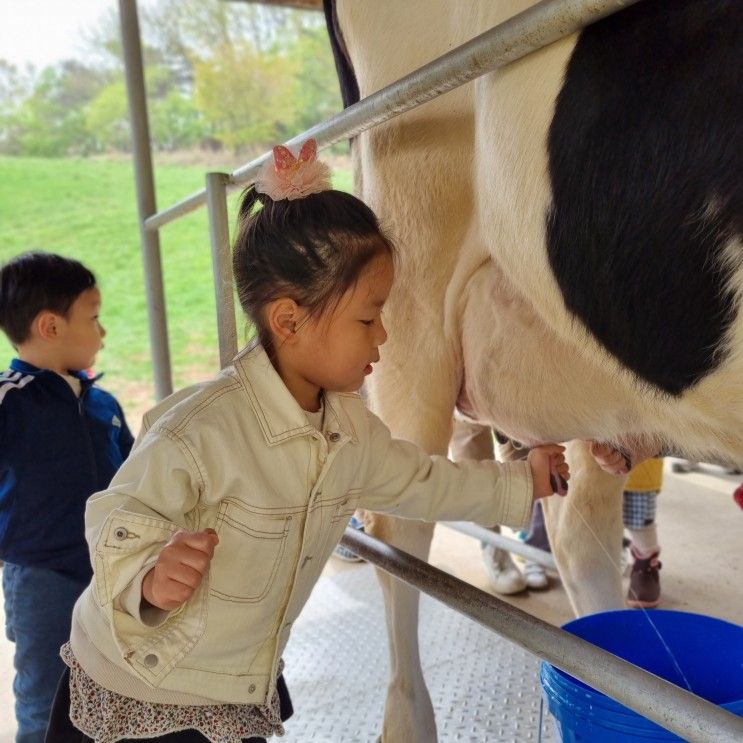
[[[368,534],[346,529],[341,544],[557,668],[691,743],[739,743],[743,718],[553,627]]]

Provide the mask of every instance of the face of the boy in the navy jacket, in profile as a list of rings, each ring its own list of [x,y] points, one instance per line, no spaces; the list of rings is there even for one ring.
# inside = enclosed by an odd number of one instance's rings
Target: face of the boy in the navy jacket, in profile
[[[58,318],[59,366],[81,371],[89,369],[103,348],[106,331],[98,321],[101,293],[96,288],[86,289],[70,307],[66,317]]]

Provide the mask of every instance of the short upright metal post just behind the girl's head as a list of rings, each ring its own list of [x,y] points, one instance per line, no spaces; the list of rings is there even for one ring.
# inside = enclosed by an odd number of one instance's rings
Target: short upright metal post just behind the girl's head
[[[237,353],[235,302],[232,297],[232,254],[227,214],[227,173],[206,174],[206,202],[209,208],[209,235],[212,241],[212,273],[217,300],[219,365],[224,368]]]

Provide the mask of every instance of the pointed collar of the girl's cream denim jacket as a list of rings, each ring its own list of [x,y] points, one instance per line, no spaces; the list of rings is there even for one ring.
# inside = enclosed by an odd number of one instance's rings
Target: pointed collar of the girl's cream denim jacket
[[[286,388],[262,346],[248,346],[232,361],[250,399],[261,430],[269,445],[279,444],[314,431],[304,410]],[[336,392],[324,392],[326,435],[338,433],[342,439],[358,441],[351,418],[341,400],[348,397]],[[356,396],[353,396],[356,397]]]

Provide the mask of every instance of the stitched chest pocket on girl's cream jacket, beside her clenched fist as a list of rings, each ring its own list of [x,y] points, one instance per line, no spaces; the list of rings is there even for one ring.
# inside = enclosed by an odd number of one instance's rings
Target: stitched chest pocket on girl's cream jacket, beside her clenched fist
[[[219,545],[209,571],[212,595],[228,601],[261,601],[279,571],[290,521],[287,514],[223,501],[215,526]],[[219,559],[222,555],[224,560]]]

